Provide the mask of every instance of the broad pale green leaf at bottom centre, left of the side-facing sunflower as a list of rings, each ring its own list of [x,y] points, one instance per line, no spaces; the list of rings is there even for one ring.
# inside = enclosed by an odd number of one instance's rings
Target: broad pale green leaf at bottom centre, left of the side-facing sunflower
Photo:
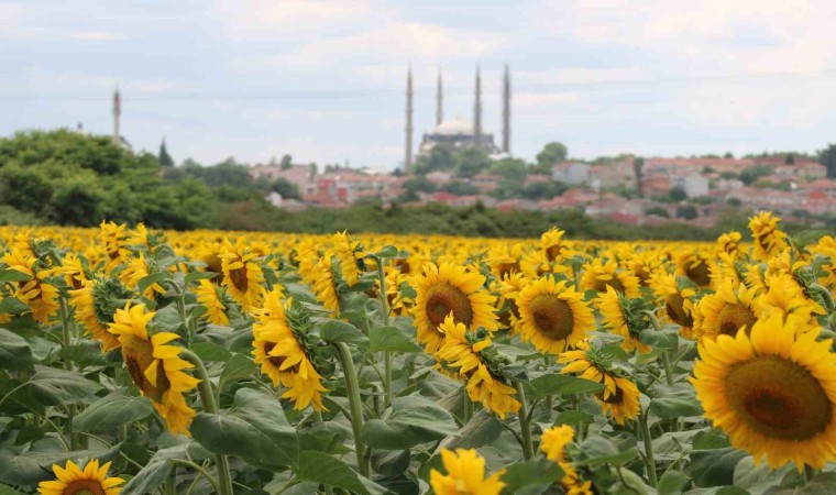
[[[396,397],[382,419],[363,425],[363,438],[374,449],[400,450],[441,440],[458,430],[447,409],[424,397]]]

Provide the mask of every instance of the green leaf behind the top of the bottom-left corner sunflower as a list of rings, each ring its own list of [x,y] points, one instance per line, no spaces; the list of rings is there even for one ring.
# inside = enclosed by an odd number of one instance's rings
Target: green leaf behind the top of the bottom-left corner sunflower
[[[110,449],[89,449],[73,452],[14,452],[0,449],[0,483],[34,486],[45,480],[54,480],[53,464],[65,465],[67,460],[99,459],[102,463],[119,457],[119,446]]]

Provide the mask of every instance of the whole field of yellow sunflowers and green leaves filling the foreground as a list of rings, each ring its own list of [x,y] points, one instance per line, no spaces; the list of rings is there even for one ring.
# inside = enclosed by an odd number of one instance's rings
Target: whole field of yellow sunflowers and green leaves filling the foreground
[[[834,494],[836,238],[0,228],[0,495]]]

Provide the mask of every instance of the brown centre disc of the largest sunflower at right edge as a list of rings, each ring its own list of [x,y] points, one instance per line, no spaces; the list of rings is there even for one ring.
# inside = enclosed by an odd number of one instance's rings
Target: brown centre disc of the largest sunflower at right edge
[[[732,408],[766,437],[809,440],[831,421],[833,406],[818,381],[779,356],[756,356],[735,365],[726,388]]]

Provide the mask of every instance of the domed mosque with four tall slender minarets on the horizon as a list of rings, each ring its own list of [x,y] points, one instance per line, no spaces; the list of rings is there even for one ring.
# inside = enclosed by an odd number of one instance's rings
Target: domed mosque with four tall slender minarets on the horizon
[[[413,156],[413,73],[407,73],[406,89],[406,148],[404,169],[411,173]],[[494,135],[482,125],[482,76],[476,68],[475,100],[473,103],[473,122],[461,118],[444,120],[443,116],[443,85],[441,74],[438,76],[436,87],[436,128],[432,132],[425,133],[418,147],[418,155],[428,155],[436,146],[447,146],[453,151],[466,147],[477,147],[494,158],[510,155],[510,73],[505,66],[503,75],[503,135],[502,146],[494,143]]]

